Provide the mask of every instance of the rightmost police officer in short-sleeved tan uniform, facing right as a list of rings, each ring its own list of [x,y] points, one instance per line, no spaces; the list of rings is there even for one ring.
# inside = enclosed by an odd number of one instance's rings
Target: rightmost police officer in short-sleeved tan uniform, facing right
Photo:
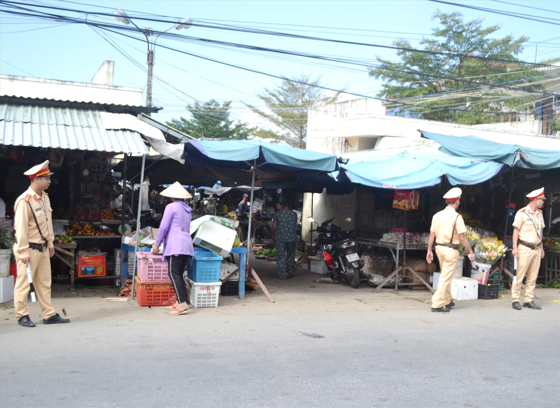
[[[543,228],[544,218],[540,208],[543,207],[544,187],[531,191],[526,197],[529,205],[521,208],[514,219],[514,247],[511,254],[517,258],[516,281],[511,286],[511,306],[516,310],[521,310],[519,297],[521,294],[521,283],[527,274],[525,282],[525,299],[523,307],[530,309],[540,309],[533,302],[533,292],[535,290],[536,276],[539,274],[540,260],[544,257],[543,250]]]

